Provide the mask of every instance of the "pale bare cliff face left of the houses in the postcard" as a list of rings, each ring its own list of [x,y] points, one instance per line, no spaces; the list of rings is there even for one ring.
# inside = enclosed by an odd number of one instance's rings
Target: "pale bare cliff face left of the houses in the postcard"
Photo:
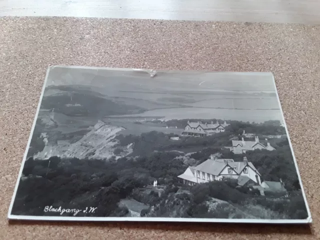
[[[33,157],[37,159],[47,159],[51,156],[64,158],[98,158],[107,159],[112,156],[116,158],[125,156],[132,152],[132,144],[124,147],[117,147],[118,140],[114,137],[116,133],[124,129],[123,127],[112,126],[98,121],[93,129],[86,133],[80,140],[69,144],[68,141],[59,141],[56,145],[48,144],[44,134],[45,147]],[[114,154],[114,149],[119,148],[118,154]]]

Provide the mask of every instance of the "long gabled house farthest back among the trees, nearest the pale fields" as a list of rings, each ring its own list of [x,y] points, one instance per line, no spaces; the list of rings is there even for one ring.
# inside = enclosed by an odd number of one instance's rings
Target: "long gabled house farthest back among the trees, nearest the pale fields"
[[[219,123],[216,121],[213,123],[202,123],[200,121],[198,122],[187,122],[187,125],[184,127],[184,130],[182,132],[182,135],[191,135],[191,136],[205,136],[205,135],[211,135],[213,133],[222,132],[225,130],[225,127],[230,124],[226,123],[224,121],[223,123]]]

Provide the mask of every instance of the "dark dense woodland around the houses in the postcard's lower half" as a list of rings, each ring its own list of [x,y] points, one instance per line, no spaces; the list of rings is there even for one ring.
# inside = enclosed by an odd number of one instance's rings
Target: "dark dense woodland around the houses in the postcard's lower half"
[[[231,139],[241,137],[238,132],[243,132],[243,129],[249,132],[253,127],[252,131],[259,129],[258,132],[263,132],[261,134],[282,134],[284,128],[271,121],[265,125],[237,124],[234,127],[231,122],[227,131],[211,136],[182,137],[179,140],[170,140],[173,134],[155,131],[141,135],[118,135],[119,145],[131,142],[134,145],[130,155],[117,160],[60,159],[56,156],[39,160],[29,157],[24,163],[12,213],[55,215],[43,213],[43,208],[47,205],[63,205],[65,208],[98,207],[99,210],[91,214],[94,216],[125,216],[128,209],[119,206],[118,202],[133,197],[150,206],[141,212],[141,216],[167,216],[174,208],[175,215],[169,216],[223,218],[228,217],[235,207],[254,205],[263,209],[263,212],[268,211],[261,218],[306,218],[307,212],[286,137],[268,140],[276,148],[274,151],[254,150],[246,154],[233,154],[222,147],[229,146]],[[193,153],[185,159],[183,156],[187,152]],[[246,156],[262,175],[261,180],[278,181],[281,178],[288,190],[288,197],[260,196],[247,187],[236,187],[230,180],[192,187],[179,182],[176,176],[183,173],[187,166],[199,164],[214,153],[235,161],[241,161]],[[164,187],[160,196],[153,191],[146,196],[135,194],[137,189],[143,189],[154,179]],[[226,201],[228,206],[209,211],[206,202],[211,198]],[[89,214],[86,213],[86,216]],[[238,218],[249,217],[242,213],[234,214]],[[84,215],[79,213],[79,216]]]

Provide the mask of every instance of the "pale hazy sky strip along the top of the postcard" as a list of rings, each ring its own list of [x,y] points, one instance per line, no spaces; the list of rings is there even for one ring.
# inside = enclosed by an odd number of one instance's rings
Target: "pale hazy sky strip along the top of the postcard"
[[[119,68],[117,68],[119,69]],[[130,88],[134,91],[265,91],[275,92],[271,73],[157,71],[151,78],[147,72],[109,70],[103,68],[53,67],[46,85],[80,84],[110,89]],[[128,87],[131,86],[131,87]]]

